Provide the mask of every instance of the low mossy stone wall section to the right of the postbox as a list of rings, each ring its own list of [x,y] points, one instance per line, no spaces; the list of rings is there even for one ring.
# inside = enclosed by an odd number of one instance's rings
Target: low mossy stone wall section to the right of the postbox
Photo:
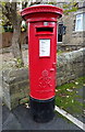
[[[57,82],[58,86],[84,76],[85,48],[73,51],[58,56]]]

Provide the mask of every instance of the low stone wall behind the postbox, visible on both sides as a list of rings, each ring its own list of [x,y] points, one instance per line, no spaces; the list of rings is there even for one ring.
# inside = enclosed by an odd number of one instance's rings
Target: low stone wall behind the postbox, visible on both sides
[[[85,48],[58,55],[57,86],[84,76]],[[3,101],[13,109],[23,98],[28,98],[28,69],[8,69],[3,72]]]

